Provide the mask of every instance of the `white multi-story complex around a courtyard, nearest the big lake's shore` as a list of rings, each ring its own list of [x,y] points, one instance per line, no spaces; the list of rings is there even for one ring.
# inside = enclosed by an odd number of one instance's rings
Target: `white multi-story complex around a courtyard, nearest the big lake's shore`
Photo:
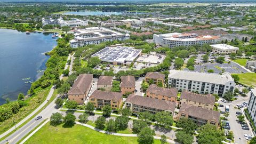
[[[100,44],[102,42],[112,41],[124,41],[130,38],[129,34],[121,34],[117,31],[102,28],[102,27],[90,27],[85,29],[77,29],[74,31],[75,38],[70,42],[72,48],[90,45]]]

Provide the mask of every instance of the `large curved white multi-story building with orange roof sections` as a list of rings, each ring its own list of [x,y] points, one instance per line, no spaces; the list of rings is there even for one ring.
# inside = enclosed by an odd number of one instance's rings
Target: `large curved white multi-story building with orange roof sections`
[[[161,35],[154,34],[153,41],[157,45],[175,47],[195,44],[215,44],[218,43],[220,39],[219,36],[198,36],[197,34],[169,33]]]

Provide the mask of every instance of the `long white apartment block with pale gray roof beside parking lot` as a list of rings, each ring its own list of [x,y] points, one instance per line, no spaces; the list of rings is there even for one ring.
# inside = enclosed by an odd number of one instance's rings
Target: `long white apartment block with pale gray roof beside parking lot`
[[[219,75],[185,70],[170,70],[168,84],[169,87],[175,87],[178,90],[189,90],[198,93],[215,93],[220,96],[228,91],[234,92],[236,86],[234,79],[228,72]]]

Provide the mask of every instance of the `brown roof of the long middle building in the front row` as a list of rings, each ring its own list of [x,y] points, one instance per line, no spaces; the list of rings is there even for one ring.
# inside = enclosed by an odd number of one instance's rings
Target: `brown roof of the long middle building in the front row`
[[[125,100],[125,102],[131,102],[135,105],[145,106],[150,108],[155,108],[159,110],[175,110],[175,102],[166,101],[166,100],[158,100],[147,97],[142,97],[140,95],[130,94],[129,97]]]

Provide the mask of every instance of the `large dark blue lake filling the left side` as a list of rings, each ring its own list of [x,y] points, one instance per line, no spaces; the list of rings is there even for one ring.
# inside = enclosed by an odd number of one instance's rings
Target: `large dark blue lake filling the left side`
[[[5,99],[16,100],[20,92],[27,94],[28,81],[34,82],[46,69],[48,56],[57,45],[51,34],[26,33],[11,29],[0,29],[0,105]],[[28,78],[30,79],[23,79]],[[26,83],[27,82],[27,83]]]

